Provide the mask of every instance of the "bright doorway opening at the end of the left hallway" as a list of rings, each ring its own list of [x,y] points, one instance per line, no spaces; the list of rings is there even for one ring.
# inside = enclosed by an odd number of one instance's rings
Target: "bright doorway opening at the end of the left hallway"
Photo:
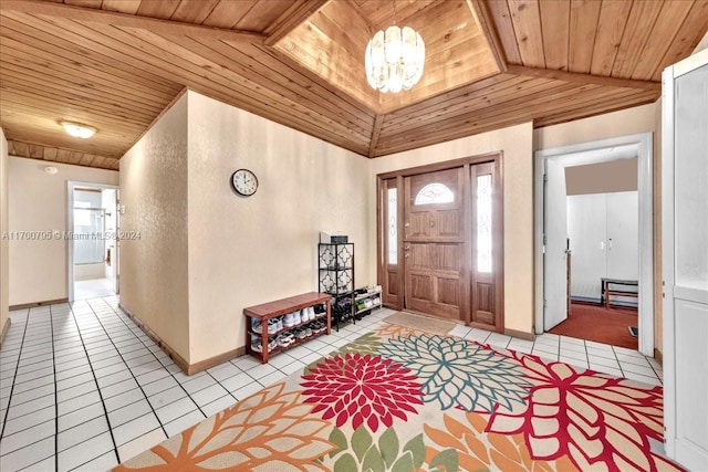
[[[69,182],[69,301],[119,292],[118,188]]]

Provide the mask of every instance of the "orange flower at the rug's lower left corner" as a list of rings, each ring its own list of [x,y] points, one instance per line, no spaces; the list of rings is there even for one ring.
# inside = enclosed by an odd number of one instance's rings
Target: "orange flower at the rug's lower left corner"
[[[323,471],[331,424],[300,392],[268,387],[119,465],[116,471]]]

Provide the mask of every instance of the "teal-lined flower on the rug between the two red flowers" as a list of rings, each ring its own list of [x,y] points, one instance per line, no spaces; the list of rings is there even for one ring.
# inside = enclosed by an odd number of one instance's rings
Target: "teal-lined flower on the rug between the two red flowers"
[[[527,369],[479,344],[439,335],[387,339],[378,348],[385,358],[403,364],[423,382],[425,402],[446,410],[492,411],[510,408],[528,396]]]

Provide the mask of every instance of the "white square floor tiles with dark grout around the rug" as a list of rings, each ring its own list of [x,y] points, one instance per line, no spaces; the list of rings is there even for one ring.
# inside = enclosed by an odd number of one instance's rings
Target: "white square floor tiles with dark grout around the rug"
[[[250,356],[186,376],[116,296],[11,312],[0,349],[0,470],[104,471],[381,325],[383,308],[261,365]],[[660,384],[637,352],[555,335],[451,335]]]

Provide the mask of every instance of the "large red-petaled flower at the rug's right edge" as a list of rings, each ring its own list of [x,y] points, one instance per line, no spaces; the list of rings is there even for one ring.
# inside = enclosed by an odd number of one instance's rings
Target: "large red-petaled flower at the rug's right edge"
[[[648,442],[663,438],[660,387],[639,388],[568,364],[546,365],[535,356],[519,360],[529,369],[530,396],[511,409],[498,408],[487,431],[523,433],[533,459],[568,455],[580,470],[673,469]]]

